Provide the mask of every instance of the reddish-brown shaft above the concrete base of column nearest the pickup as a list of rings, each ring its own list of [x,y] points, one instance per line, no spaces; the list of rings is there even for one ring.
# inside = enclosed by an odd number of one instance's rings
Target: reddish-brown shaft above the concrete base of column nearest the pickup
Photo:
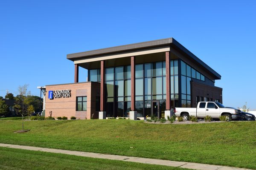
[[[166,110],[170,110],[170,57],[169,51],[166,51]]]

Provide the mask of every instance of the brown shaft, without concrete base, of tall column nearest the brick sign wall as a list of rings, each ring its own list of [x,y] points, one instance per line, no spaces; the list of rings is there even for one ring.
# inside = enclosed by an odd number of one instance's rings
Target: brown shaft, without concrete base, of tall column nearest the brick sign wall
[[[105,109],[105,61],[100,62],[100,111]]]

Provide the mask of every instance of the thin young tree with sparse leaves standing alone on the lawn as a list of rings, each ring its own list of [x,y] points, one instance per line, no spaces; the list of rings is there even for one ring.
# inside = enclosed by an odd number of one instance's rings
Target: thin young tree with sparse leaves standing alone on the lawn
[[[17,109],[18,113],[22,116],[22,130],[24,116],[28,115],[27,108],[29,107],[29,102],[26,100],[26,95],[30,95],[30,91],[27,91],[28,86],[29,85],[27,84],[19,86],[19,95],[15,97],[15,108]]]

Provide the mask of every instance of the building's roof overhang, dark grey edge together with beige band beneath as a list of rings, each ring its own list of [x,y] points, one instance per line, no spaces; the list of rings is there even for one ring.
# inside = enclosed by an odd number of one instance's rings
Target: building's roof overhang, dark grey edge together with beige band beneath
[[[80,53],[67,54],[67,59],[70,59],[74,64],[100,61],[105,59],[115,59],[121,57],[138,56],[142,54],[152,54],[164,51],[170,51],[174,48],[180,54],[183,54],[192,62],[197,63],[205,71],[212,74],[214,79],[221,79],[221,75],[205,64],[201,59],[196,57],[192,52],[186,49],[183,45],[177,42],[174,38],[166,38],[161,40],[153,40],[140,42],[128,45],[121,45],[110,48],[102,48],[98,50],[85,51]]]

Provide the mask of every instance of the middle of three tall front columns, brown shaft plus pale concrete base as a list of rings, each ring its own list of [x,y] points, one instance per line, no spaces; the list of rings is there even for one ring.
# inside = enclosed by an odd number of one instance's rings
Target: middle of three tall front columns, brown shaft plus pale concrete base
[[[131,57],[131,111],[130,120],[137,120],[135,111],[135,57]]]

